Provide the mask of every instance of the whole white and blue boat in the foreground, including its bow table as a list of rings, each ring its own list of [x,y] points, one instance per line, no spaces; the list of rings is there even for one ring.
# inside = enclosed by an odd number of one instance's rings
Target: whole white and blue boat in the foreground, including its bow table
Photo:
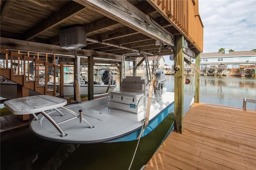
[[[126,70],[124,66],[120,90],[104,98],[64,107],[66,100],[40,95],[8,100],[4,106],[14,114],[32,113],[32,133],[51,141],[102,143],[140,139],[172,111],[174,93],[163,87],[164,70],[156,70],[152,80],[147,74],[149,67],[145,77],[136,76],[135,70]],[[36,115],[37,112],[41,113]]]

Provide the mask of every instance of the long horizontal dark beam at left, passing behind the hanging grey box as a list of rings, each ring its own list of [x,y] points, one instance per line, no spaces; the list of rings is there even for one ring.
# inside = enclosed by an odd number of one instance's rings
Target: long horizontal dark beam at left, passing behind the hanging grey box
[[[10,38],[4,38],[4,37],[0,37],[0,41],[1,41],[1,48],[4,48],[4,49],[16,49],[21,51],[38,51],[41,53],[52,53],[52,54],[58,54],[58,55],[65,55],[65,56],[62,56],[65,58],[74,56],[73,51],[62,49],[58,45],[42,44],[42,43],[22,41],[22,40],[10,39]],[[99,57],[99,58],[118,60],[118,61],[120,61],[122,57],[121,55],[115,55],[111,53],[104,53],[100,51],[92,51],[92,50],[85,50],[85,49],[78,50],[77,55]]]

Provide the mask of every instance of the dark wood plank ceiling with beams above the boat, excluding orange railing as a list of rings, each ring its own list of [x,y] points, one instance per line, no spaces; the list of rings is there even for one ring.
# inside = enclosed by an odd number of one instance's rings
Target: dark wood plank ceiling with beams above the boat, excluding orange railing
[[[160,45],[156,45],[157,40],[163,42],[160,55],[173,53],[168,47],[174,46],[174,35],[180,32],[147,1],[104,2],[110,6],[105,6],[105,10],[109,8],[111,11],[111,6],[115,5],[116,9],[119,8],[120,14],[104,12],[99,8],[101,2],[104,1],[1,0],[1,47],[27,51],[40,51],[41,47],[41,52],[47,52],[46,49],[48,49],[52,53],[70,54],[67,50],[56,48],[60,42],[59,31],[74,25],[86,25],[88,39],[118,45],[118,47],[94,43],[87,39],[86,47],[78,50],[78,55],[81,56],[92,55],[116,60],[119,55],[132,52],[122,47],[158,55]],[[124,18],[122,13],[126,15]],[[136,23],[130,23],[128,20],[130,16],[127,14],[138,21],[143,19],[146,22],[141,24],[149,24],[146,27],[151,26],[153,29],[144,29],[139,25],[136,26]],[[155,32],[152,34],[150,31]],[[46,46],[36,47],[33,42]],[[24,43],[23,46],[22,43]],[[192,44],[189,44],[189,48],[195,53],[199,52]]]

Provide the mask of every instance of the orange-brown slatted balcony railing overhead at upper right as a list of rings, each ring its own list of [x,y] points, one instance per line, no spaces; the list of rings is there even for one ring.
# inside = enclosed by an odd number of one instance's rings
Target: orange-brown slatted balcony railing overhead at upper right
[[[203,24],[199,15],[198,0],[149,0],[158,12],[203,52]]]

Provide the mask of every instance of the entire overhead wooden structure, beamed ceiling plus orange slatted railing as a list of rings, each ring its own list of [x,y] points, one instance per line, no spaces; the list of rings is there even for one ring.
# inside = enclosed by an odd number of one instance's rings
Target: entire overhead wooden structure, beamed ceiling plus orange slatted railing
[[[1,48],[55,53],[60,31],[86,27],[86,46],[78,56],[119,60],[132,51],[172,54],[175,35],[182,34],[194,53],[203,51],[203,24],[198,0],[20,0],[1,2]],[[179,6],[179,9],[176,8]],[[161,43],[159,43],[161,42]],[[125,47],[125,48],[124,48]],[[157,49],[157,50],[156,50]],[[26,53],[25,53],[26,54]]]

